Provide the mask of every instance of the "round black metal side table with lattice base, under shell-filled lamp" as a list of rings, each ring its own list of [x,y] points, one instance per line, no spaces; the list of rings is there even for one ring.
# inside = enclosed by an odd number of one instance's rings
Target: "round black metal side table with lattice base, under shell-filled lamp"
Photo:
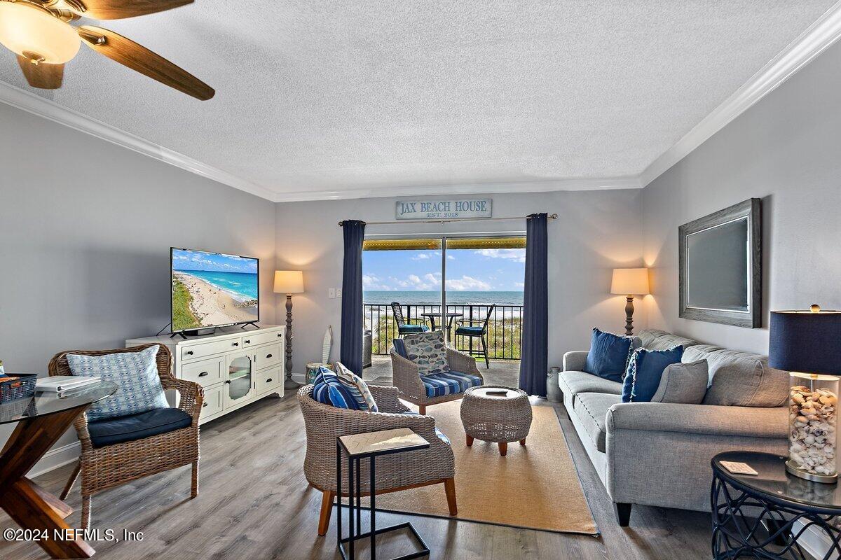
[[[798,539],[807,530],[828,537],[824,560],[841,554],[838,484],[810,482],[785,472],[785,457],[727,452],[712,458],[712,556],[807,560]],[[722,461],[748,463],[758,475],[733,474]]]

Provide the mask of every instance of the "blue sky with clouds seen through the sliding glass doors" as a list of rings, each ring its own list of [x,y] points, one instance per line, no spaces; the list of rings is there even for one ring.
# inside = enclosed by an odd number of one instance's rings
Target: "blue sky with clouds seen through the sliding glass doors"
[[[520,291],[526,249],[447,250],[447,290]],[[363,251],[364,290],[441,290],[441,251]]]

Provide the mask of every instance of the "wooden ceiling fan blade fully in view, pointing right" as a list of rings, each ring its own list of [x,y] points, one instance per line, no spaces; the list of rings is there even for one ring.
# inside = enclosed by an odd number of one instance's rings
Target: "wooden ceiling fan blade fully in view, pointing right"
[[[82,25],[77,31],[87,46],[121,65],[196,99],[206,101],[214,96],[214,89],[204,81],[131,39],[93,25]]]

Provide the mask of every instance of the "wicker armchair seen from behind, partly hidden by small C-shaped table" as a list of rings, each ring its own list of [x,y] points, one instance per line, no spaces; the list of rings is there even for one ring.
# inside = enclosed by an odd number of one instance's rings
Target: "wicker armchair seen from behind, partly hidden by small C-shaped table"
[[[444,484],[450,515],[458,513],[456,507],[456,472],[452,448],[436,434],[435,418],[407,414],[408,408],[398,399],[394,387],[368,385],[377,401],[378,412],[352,411],[324,405],[312,398],[313,386],[305,385],[298,391],[298,402],[304,413],[307,432],[307,453],[304,458],[304,475],[307,482],[324,494],[321,497],[321,514],[318,534],[325,535],[330,525],[333,501],[336,499],[336,437],[396,428],[410,428],[430,442],[428,449],[397,453],[382,457],[377,462],[377,494],[398,490]],[[370,495],[368,463],[362,462],[362,495]],[[342,465],[342,488],[348,488],[347,462]],[[343,493],[343,495],[346,495]]]

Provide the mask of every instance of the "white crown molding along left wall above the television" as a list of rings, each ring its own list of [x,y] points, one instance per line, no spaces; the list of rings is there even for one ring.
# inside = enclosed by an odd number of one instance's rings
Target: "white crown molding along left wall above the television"
[[[127,133],[124,130],[78,113],[68,107],[62,107],[50,99],[26,92],[19,87],[12,86],[3,81],[0,81],[0,102],[17,107],[28,113],[33,113],[39,117],[48,118],[51,121],[64,124],[70,128],[75,128],[80,132],[88,133],[98,139],[103,139],[123,148],[131,149],[139,154],[148,155],[169,165],[175,165],[190,173],[207,177],[227,186],[233,186],[252,195],[261,196],[268,200],[272,200],[274,197],[272,191],[255,185],[250,181],[245,181],[227,171],[220,170],[213,165],[207,165],[201,161],[194,160],[187,155],[154,144],[149,140],[142,139],[132,133]]]

